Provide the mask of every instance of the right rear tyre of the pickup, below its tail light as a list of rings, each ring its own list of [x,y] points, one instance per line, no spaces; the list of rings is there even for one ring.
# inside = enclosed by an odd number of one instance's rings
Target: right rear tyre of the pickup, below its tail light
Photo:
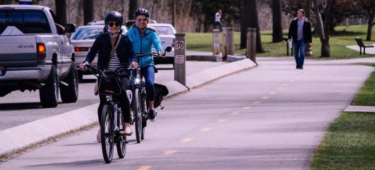
[[[58,103],[58,78],[55,65],[51,66],[50,75],[43,83],[45,85],[39,89],[40,104],[43,107],[56,107]]]

